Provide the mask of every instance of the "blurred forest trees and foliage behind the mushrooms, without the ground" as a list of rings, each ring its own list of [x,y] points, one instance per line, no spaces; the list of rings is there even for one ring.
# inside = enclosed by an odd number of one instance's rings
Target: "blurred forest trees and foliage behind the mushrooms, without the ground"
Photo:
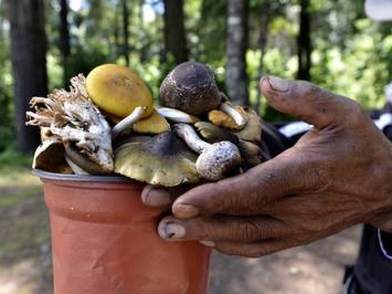
[[[306,79],[377,108],[392,80],[392,23],[364,0],[0,0],[0,153],[32,151],[32,96],[113,62],[160,82],[188,59],[208,64],[235,104],[287,118],[258,91],[265,73]],[[10,151],[11,150],[11,151]]]

